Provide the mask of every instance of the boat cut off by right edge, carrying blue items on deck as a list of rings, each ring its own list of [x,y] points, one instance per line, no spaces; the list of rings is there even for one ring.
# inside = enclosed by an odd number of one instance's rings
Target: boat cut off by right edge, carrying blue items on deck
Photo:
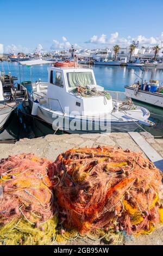
[[[163,108],[163,83],[161,81],[150,80],[149,83],[134,83],[124,88],[127,97]]]

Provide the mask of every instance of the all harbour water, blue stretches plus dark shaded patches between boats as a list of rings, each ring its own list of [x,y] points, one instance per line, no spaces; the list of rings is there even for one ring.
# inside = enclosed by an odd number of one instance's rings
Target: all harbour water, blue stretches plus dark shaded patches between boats
[[[8,73],[11,71],[12,76],[18,77],[18,82],[20,82],[20,71],[19,65],[16,62],[7,63],[3,62],[3,66],[0,66],[0,70],[5,70]],[[138,67],[127,67],[127,66],[91,66],[95,73],[97,84],[103,86],[106,90],[124,92],[124,86],[131,84],[137,78],[142,77],[142,71]],[[137,76],[139,77],[137,77]],[[39,78],[42,82],[47,82],[47,65],[39,65],[32,67],[32,81],[35,82]],[[146,70],[143,76],[147,81],[150,79],[163,80],[163,70]],[[24,77],[23,69],[21,66],[21,81],[30,80],[30,68],[24,67]],[[147,131],[151,132],[154,136],[163,136],[163,111],[162,109],[151,107],[148,105],[142,105],[142,103],[137,103],[146,107],[151,112],[151,120],[155,121],[156,126],[148,128],[143,126]],[[29,109],[24,109],[24,111],[29,111]],[[14,122],[13,122],[14,119]],[[40,121],[31,119],[27,115],[22,115],[21,119],[16,120],[14,117],[12,123],[8,126],[7,130],[1,133],[0,140],[11,139],[11,137],[39,137],[44,136],[48,133],[54,133],[54,131],[45,123],[40,123]],[[15,121],[16,120],[16,121]],[[21,122],[20,122],[21,120]],[[139,129],[138,129],[139,130]],[[18,135],[16,132],[18,131]]]

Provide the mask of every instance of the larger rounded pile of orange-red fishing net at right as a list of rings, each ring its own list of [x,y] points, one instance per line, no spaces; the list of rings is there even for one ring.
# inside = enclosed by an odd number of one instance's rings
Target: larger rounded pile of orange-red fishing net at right
[[[49,176],[65,230],[112,241],[116,235],[121,240],[124,234],[149,234],[163,222],[162,174],[140,153],[71,149],[52,166]]]

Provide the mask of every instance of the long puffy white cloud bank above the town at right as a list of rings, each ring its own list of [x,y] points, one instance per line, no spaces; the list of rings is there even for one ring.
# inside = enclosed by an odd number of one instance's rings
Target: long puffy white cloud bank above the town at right
[[[118,32],[112,33],[110,37],[102,34],[100,36],[93,35],[92,38],[90,38],[89,41],[86,43],[92,43],[92,44],[103,44],[103,45],[115,45],[120,44],[122,46],[128,46],[131,44],[132,41],[139,41],[140,45],[156,45],[161,44],[161,41],[163,41],[163,32],[160,36],[154,37],[151,36],[149,38],[146,38],[144,35],[138,35],[135,38],[131,38],[130,35],[128,35],[126,38],[119,36]]]

